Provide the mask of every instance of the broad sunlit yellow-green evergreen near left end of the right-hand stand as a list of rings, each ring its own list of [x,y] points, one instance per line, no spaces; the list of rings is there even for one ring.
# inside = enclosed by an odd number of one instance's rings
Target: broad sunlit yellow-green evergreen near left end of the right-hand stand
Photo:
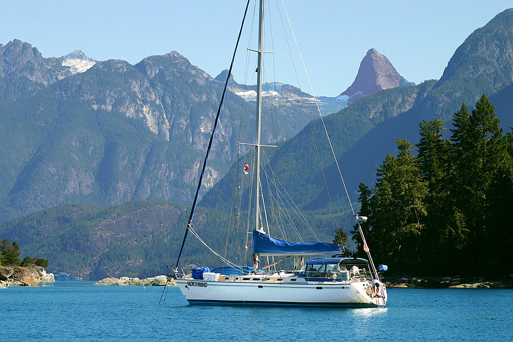
[[[372,243],[377,254],[392,267],[418,269],[420,234],[424,227],[427,194],[413,146],[397,140],[399,154],[390,154],[378,170],[378,182],[372,196]]]

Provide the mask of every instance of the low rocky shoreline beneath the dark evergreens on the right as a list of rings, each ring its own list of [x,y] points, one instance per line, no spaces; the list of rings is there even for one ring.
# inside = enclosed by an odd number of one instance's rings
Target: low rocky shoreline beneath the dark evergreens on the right
[[[416,289],[513,289],[513,275],[500,280],[485,280],[484,278],[468,277],[383,277],[383,283],[388,288]]]

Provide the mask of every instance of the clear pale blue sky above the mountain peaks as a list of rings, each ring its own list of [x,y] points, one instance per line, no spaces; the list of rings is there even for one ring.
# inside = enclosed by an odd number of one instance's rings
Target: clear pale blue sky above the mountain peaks
[[[286,31],[288,44],[282,33],[283,26],[288,27],[282,0],[270,0],[264,50],[274,53],[265,54],[273,65],[264,68],[265,80],[301,86],[317,96],[337,96],[349,87],[371,48],[387,56],[410,82],[438,79],[469,34],[513,7],[510,0],[283,3],[301,55],[287,48],[295,51],[291,31]],[[280,12],[273,12],[278,4]],[[230,66],[245,6],[243,0],[0,0],[0,44],[16,38],[36,47],[43,57],[81,49],[97,61],[123,59],[130,64],[175,50],[215,77]],[[248,12],[250,22],[253,5]],[[239,83],[252,83],[252,75],[244,71],[253,63],[247,62],[251,52],[246,48],[257,46],[248,43],[249,29],[244,34],[233,75]],[[296,76],[303,70],[301,56],[311,88],[303,74]],[[292,67],[282,69],[286,64]]]

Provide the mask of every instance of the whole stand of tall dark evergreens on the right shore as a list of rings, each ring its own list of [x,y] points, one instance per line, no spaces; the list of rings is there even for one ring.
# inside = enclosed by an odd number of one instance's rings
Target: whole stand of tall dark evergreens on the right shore
[[[420,123],[420,141],[398,139],[370,189],[359,187],[362,229],[374,259],[393,273],[485,275],[513,272],[513,133],[503,134],[483,94],[445,122]],[[417,148],[417,154],[412,151]],[[358,226],[357,256],[365,257]]]

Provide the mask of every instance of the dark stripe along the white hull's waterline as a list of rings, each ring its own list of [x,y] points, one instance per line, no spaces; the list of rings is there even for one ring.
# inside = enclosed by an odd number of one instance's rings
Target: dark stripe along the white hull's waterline
[[[377,308],[370,303],[289,303],[287,301],[236,301],[187,299],[190,305],[216,306],[278,306],[278,307],[337,307],[337,308]]]

